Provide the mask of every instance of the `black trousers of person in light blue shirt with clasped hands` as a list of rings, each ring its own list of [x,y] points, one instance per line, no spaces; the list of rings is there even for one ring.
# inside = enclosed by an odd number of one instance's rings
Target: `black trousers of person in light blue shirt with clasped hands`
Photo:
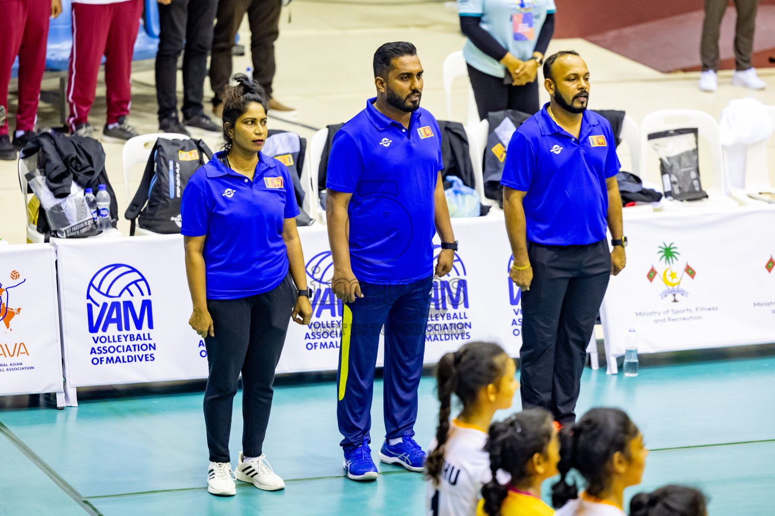
[[[480,72],[470,64],[468,66],[468,79],[474,89],[474,98],[477,100],[479,119],[487,118],[487,113],[515,109],[527,114],[535,114],[540,106],[538,104],[538,76],[532,83],[523,86],[503,84],[503,77],[493,77],[489,73]]]

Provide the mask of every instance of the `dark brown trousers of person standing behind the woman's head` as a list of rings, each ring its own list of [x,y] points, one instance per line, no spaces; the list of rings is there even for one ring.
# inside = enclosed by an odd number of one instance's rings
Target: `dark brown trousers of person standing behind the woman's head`
[[[250,24],[253,79],[267,90],[270,97],[272,96],[272,80],[276,69],[274,42],[280,35],[280,11],[281,0],[220,0],[218,2],[218,20],[215,22],[210,59],[213,104],[221,103],[218,95],[229,84],[232,76],[232,46],[245,13]]]

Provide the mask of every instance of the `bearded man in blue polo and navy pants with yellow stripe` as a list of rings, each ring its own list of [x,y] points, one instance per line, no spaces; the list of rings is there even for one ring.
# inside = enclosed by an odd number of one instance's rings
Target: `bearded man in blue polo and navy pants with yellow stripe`
[[[384,463],[422,471],[412,439],[431,302],[432,237],[442,250],[436,276],[457,247],[441,180],[441,133],[420,108],[422,65],[412,43],[374,53],[377,97],[336,133],[329,156],[326,218],[332,289],[344,301],[336,416],[344,468],[374,480],[369,447],[377,346],[384,325]]]

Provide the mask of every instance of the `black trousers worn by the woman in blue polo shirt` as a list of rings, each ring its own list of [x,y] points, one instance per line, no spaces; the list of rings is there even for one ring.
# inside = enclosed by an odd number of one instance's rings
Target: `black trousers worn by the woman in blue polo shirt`
[[[174,3],[174,2],[173,2]],[[272,408],[274,368],[296,304],[288,274],[273,290],[243,299],[208,299],[215,337],[205,337],[209,374],[205,426],[210,461],[229,462],[232,401],[243,375],[243,453],[261,455]]]

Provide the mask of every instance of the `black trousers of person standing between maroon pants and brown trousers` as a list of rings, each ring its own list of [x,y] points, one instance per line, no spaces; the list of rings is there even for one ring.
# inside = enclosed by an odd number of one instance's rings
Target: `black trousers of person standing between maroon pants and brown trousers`
[[[183,54],[183,117],[202,113],[207,54],[217,0],[174,0],[159,4],[159,51],[156,54],[156,98],[159,120],[177,118],[177,58]]]

